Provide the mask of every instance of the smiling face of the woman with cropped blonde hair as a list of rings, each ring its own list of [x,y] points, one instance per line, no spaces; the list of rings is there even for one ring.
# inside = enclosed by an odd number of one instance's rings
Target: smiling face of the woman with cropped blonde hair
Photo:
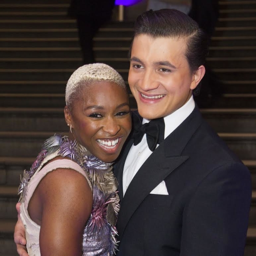
[[[119,85],[107,81],[94,83],[81,93],[72,113],[67,107],[64,111],[73,138],[100,160],[112,162],[131,130],[128,95]]]

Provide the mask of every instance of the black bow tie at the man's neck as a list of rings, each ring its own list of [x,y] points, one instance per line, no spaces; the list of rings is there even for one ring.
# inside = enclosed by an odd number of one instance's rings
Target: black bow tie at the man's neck
[[[140,118],[133,115],[133,145],[138,145],[143,135],[146,133],[147,145],[151,151],[156,149],[156,145],[160,144],[164,140],[164,118],[152,119],[149,123],[142,125]]]

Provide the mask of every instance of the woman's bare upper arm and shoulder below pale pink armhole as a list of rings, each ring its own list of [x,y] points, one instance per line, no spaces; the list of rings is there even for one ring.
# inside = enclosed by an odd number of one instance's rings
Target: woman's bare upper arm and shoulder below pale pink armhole
[[[35,191],[42,204],[41,256],[82,255],[83,229],[92,210],[92,191],[71,169],[48,173]]]

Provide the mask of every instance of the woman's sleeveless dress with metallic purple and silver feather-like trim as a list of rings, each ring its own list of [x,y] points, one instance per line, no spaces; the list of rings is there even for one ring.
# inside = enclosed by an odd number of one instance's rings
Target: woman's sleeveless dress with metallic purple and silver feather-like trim
[[[55,160],[56,156],[69,159]],[[117,181],[112,172],[112,164],[104,163],[88,152],[85,147],[67,136],[54,135],[47,139],[42,151],[19,186],[21,220],[25,225],[27,250],[30,256],[40,256],[40,226],[28,215],[28,203],[40,180],[57,168],[71,168],[88,180],[93,192],[92,212],[83,231],[83,256],[112,256],[116,254],[116,218],[119,211]]]

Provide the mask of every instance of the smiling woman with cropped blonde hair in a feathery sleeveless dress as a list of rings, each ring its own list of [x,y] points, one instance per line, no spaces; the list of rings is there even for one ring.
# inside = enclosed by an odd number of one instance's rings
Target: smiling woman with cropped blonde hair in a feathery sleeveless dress
[[[119,197],[111,162],[131,130],[119,73],[99,63],[77,69],[64,115],[69,135],[45,141],[20,185],[28,254],[114,255]]]

